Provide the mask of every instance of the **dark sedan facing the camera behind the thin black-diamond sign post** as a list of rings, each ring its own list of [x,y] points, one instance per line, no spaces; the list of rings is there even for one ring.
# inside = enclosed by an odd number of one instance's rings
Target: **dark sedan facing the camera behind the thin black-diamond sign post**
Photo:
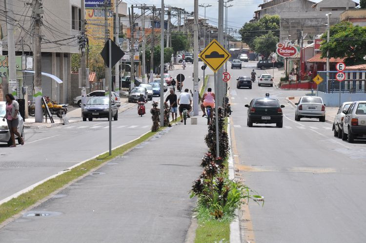
[[[118,120],[118,108],[112,100],[112,117]],[[109,120],[109,97],[90,97],[89,101],[82,108],[82,121],[93,121],[93,118],[108,118]]]

